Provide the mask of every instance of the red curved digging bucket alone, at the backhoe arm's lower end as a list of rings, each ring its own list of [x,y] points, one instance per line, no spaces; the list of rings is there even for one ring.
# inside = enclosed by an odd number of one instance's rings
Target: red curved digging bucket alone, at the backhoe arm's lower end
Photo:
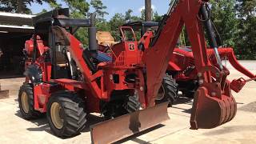
[[[190,118],[191,129],[210,129],[230,122],[236,114],[237,103],[232,95],[211,97],[206,87],[199,87],[195,96]]]

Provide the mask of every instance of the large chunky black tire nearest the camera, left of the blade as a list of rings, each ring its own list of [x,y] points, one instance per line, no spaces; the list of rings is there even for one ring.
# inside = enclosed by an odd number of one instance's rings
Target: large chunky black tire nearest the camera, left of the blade
[[[51,108],[56,103],[61,107],[59,112],[63,120],[61,128],[54,125],[51,117]],[[77,135],[86,125],[85,102],[74,92],[60,91],[52,94],[47,104],[46,115],[50,130],[61,138],[70,138]]]

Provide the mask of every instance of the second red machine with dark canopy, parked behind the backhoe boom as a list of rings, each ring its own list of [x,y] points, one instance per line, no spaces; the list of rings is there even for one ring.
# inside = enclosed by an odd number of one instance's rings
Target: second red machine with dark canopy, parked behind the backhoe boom
[[[141,49],[147,49],[150,46],[151,38],[154,37],[155,31],[158,29],[158,22],[129,22],[123,26],[130,26],[133,30],[139,32],[141,39],[139,40],[138,45]],[[206,52],[207,58],[209,58],[211,64],[218,66],[214,50],[207,47]],[[246,85],[246,82],[255,80],[256,76],[238,62],[233,48],[219,47],[218,53],[222,61],[229,61],[235,70],[238,70],[240,73],[250,78],[247,80],[245,78],[233,79],[230,83],[231,90],[238,93],[242,90],[242,87]],[[227,70],[226,67],[225,70]],[[194,55],[191,47],[176,47],[174,49],[166,74],[171,77],[172,81],[178,83],[178,90],[182,91],[182,96],[194,98],[194,93],[198,89],[198,72],[194,64]],[[158,93],[157,99],[166,98],[166,96],[163,97],[161,93],[161,91],[165,91],[166,86],[162,84],[162,87],[163,88],[160,88],[159,90],[160,92]]]

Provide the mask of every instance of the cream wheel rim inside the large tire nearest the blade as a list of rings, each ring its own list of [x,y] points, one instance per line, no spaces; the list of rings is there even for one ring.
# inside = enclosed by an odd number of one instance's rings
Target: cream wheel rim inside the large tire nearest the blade
[[[57,129],[62,129],[64,119],[62,118],[62,106],[58,104],[58,102],[54,102],[50,106],[50,117],[51,121],[54,123],[54,126]]]

